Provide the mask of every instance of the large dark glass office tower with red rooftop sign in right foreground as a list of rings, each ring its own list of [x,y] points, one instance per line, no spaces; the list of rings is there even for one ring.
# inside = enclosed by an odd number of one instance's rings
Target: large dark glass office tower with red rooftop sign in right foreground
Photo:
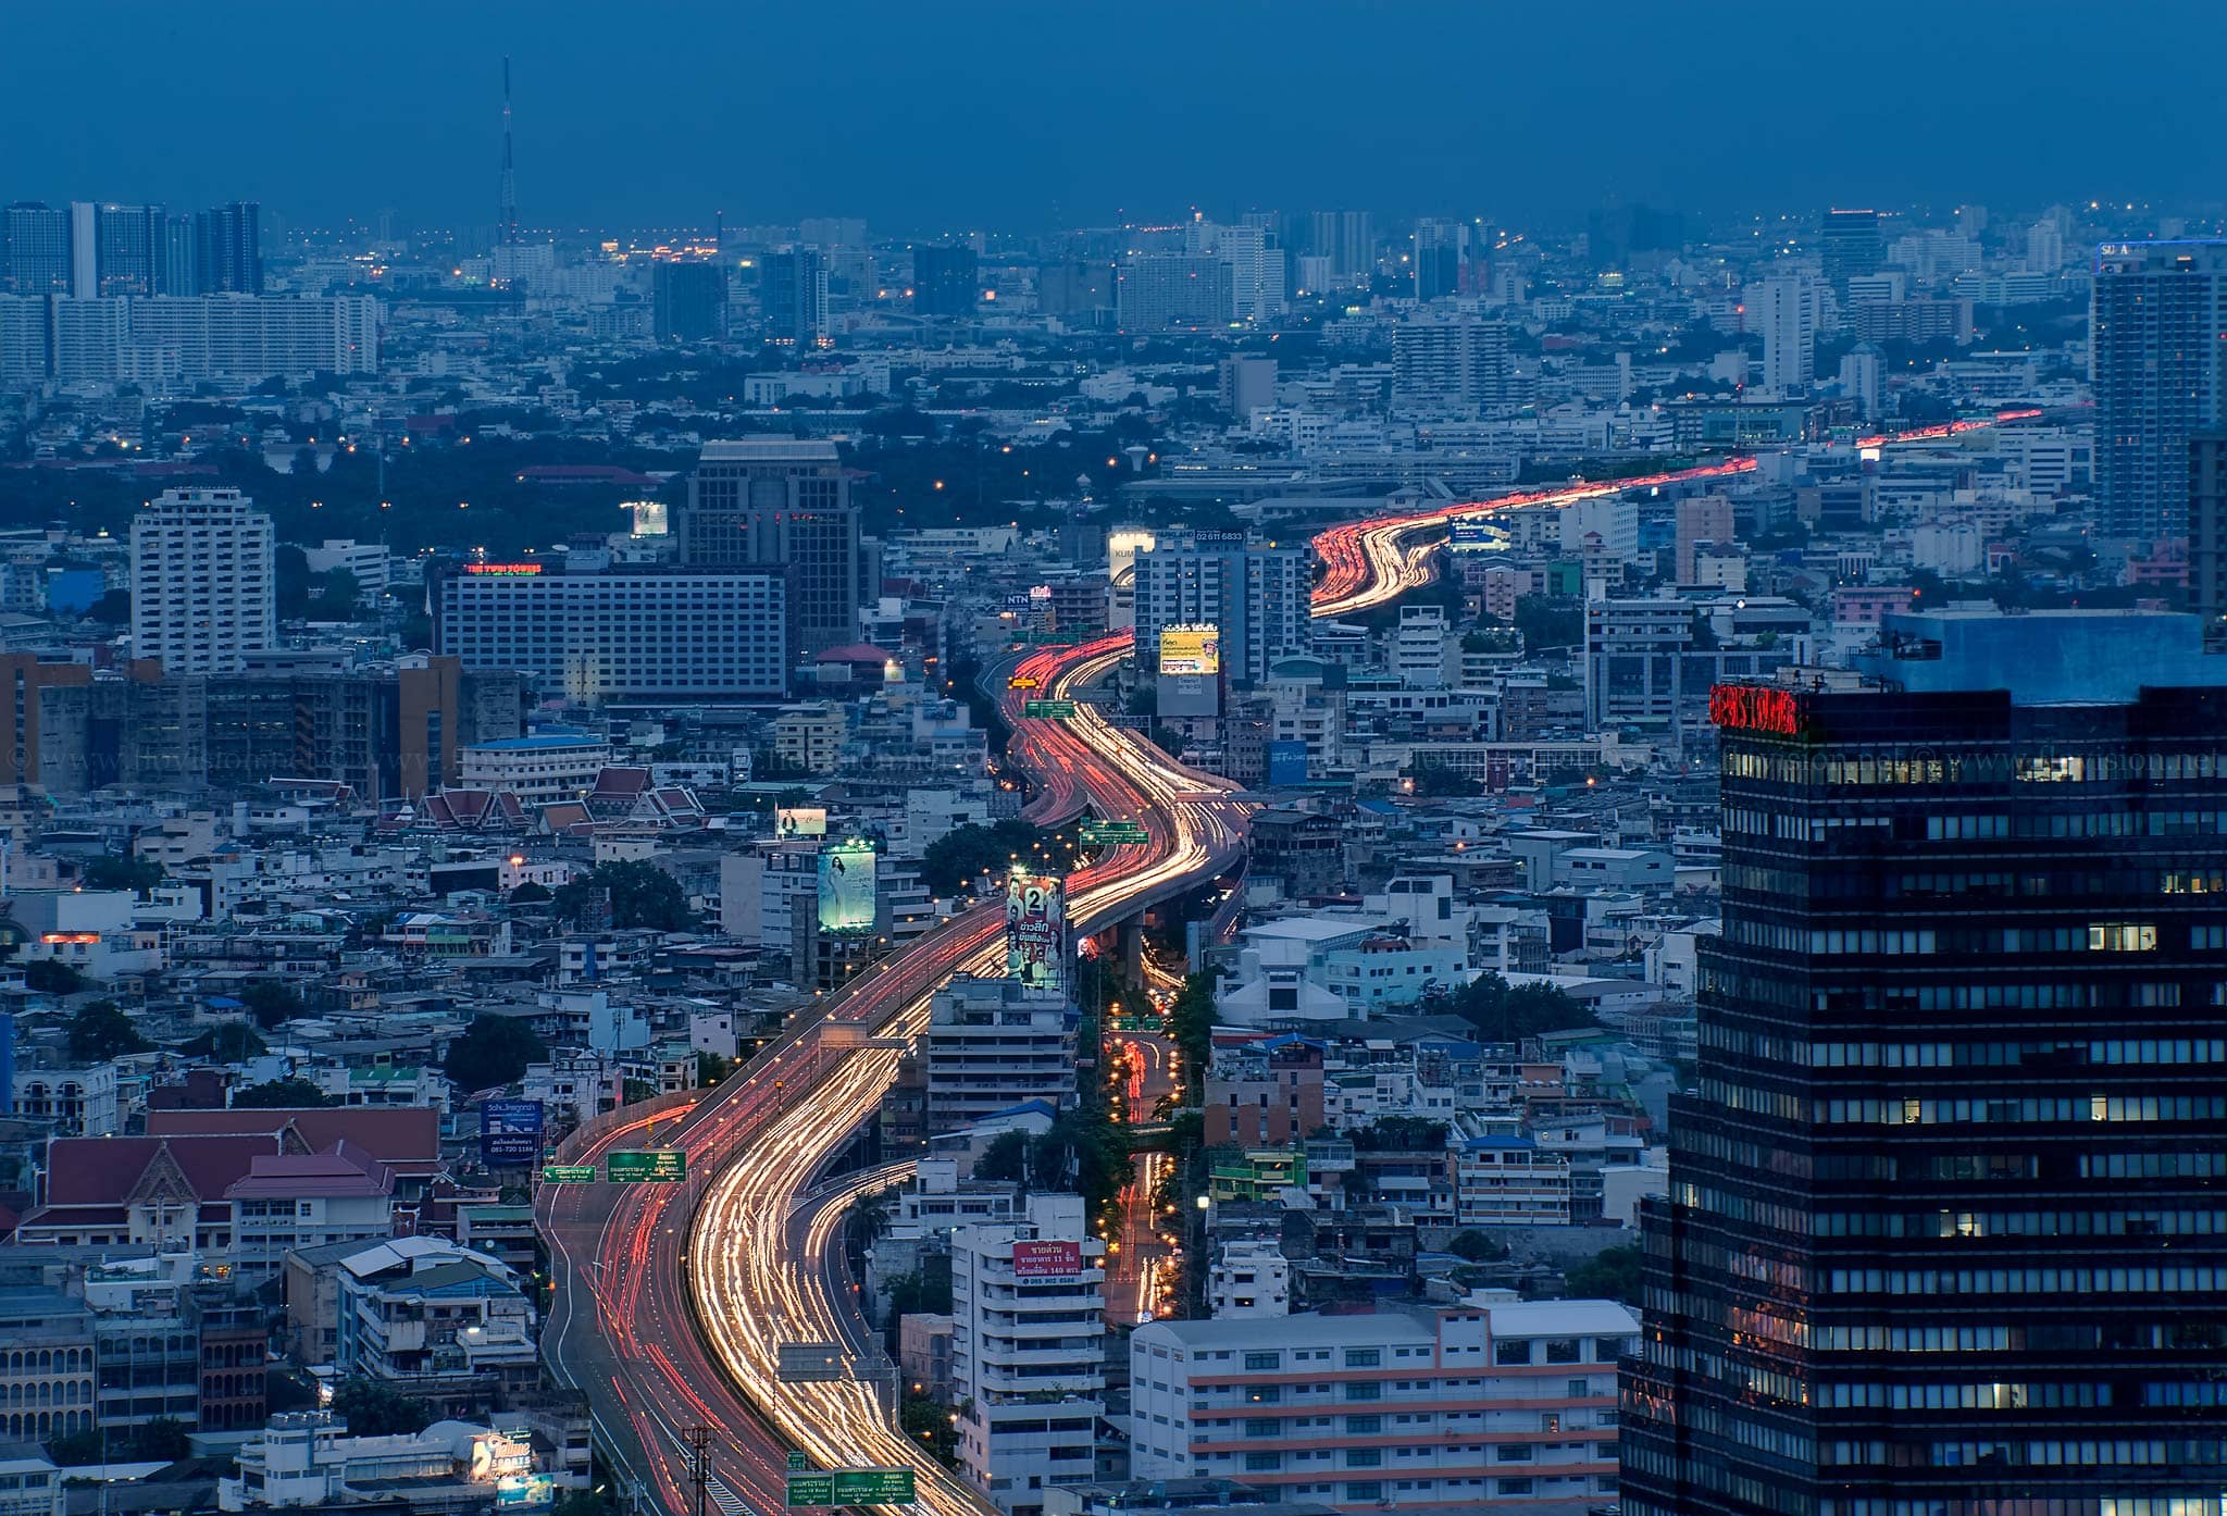
[[[2227,659],[2142,612],[1884,639],[1710,701],[1621,1507],[2218,1516]]]

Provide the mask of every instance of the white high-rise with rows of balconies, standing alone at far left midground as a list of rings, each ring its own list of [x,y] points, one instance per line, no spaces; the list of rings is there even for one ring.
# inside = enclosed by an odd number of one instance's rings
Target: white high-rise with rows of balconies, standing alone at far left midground
[[[165,490],[131,519],[131,650],[232,675],[278,641],[272,519],[238,490]]]

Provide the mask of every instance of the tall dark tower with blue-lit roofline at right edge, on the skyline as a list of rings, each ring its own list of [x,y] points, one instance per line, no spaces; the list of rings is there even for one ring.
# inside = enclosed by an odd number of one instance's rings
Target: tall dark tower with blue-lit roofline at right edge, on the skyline
[[[2089,294],[2096,505],[2111,536],[2189,530],[2189,439],[2220,425],[2227,243],[2107,243]]]

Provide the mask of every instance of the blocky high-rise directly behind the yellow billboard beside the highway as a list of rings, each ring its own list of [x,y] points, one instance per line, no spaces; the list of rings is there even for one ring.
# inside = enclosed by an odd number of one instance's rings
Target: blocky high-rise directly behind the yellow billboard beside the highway
[[[1314,646],[1312,585],[1305,545],[1249,543],[1243,532],[1165,534],[1136,554],[1138,657],[1158,659],[1167,626],[1211,626],[1223,675],[1258,683],[1269,663]]]

